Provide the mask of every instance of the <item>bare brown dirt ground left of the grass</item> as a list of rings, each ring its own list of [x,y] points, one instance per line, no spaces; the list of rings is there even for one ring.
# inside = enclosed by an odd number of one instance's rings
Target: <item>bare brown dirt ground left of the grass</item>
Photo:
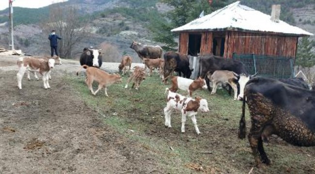
[[[0,57],[0,174],[166,173],[150,151],[104,125],[63,81],[79,62],[56,66],[50,89],[25,75],[19,90],[17,58]]]

